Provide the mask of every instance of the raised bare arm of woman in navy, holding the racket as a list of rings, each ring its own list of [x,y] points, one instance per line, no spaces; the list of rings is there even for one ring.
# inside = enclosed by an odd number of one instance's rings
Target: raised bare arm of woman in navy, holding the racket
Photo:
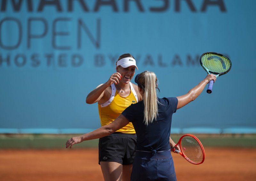
[[[216,76],[214,74],[207,75],[204,78],[204,80],[202,80],[198,85],[196,85],[196,87],[188,91],[187,94],[177,97],[178,99],[177,109],[180,109],[181,107],[195,100],[202,93],[207,83],[209,83],[211,80],[213,80],[214,82],[216,81]]]

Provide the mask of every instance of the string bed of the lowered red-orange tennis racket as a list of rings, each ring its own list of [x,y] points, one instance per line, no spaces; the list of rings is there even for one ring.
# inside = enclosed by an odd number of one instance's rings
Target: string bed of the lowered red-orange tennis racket
[[[201,163],[204,159],[203,150],[200,144],[191,136],[184,136],[180,143],[180,149],[189,160],[194,163]]]

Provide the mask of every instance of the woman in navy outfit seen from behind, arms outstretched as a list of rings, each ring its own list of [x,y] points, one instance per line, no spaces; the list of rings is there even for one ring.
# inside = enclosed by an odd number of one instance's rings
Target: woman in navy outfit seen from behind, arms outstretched
[[[139,86],[143,100],[127,107],[109,125],[69,139],[66,142],[66,148],[69,146],[71,148],[74,144],[85,140],[109,135],[132,122],[137,134],[137,148],[131,180],[175,181],[176,174],[169,145],[172,114],[195,100],[211,80],[215,82],[215,75],[207,75],[203,81],[183,96],[157,98],[155,73],[142,72],[135,77],[135,82]]]

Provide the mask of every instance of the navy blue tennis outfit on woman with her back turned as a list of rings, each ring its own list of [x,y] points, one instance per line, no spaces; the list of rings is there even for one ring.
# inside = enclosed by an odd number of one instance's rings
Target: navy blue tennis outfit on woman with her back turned
[[[172,114],[176,112],[177,98],[157,98],[158,116],[144,123],[144,102],[127,107],[122,114],[132,122],[137,134],[137,148],[131,180],[175,181],[176,175],[170,152],[169,137]]]

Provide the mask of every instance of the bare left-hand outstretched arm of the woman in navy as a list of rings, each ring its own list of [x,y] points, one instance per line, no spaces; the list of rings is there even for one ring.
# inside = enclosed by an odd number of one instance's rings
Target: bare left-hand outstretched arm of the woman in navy
[[[74,144],[81,143],[86,140],[93,140],[107,136],[111,133],[116,132],[118,129],[126,126],[128,123],[129,121],[122,114],[120,114],[112,123],[107,126],[100,127],[90,133],[83,134],[78,137],[70,138],[66,142],[66,148],[68,148],[69,146],[71,148]]]

